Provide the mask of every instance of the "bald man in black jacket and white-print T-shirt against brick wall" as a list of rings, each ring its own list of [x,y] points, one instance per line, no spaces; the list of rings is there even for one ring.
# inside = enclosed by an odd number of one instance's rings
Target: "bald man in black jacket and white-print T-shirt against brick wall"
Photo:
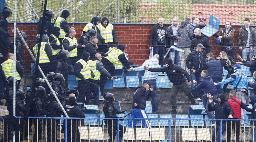
[[[154,25],[151,29],[149,39],[149,49],[153,47],[153,55],[159,55],[159,64],[163,67],[163,56],[166,54],[166,32],[167,27],[163,25],[164,19],[160,17],[158,24]]]

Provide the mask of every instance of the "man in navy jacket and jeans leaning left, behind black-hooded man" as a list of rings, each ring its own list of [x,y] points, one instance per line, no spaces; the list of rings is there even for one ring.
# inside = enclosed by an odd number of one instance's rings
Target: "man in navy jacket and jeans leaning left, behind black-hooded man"
[[[203,70],[201,72],[202,80],[200,81],[200,83],[196,84],[197,82],[195,80],[193,80],[192,83],[194,83],[196,90],[203,89],[203,91],[204,91],[203,104],[204,104],[205,111],[206,111],[209,119],[214,119],[215,118],[214,114],[212,112],[208,111],[208,105],[209,105],[208,99],[209,98],[207,97],[207,94],[211,94],[211,97],[213,99],[217,100],[218,91],[217,91],[216,86],[214,85],[213,80],[207,74],[208,74],[207,70]],[[215,121],[212,121],[211,124],[212,124],[212,126],[215,126]]]

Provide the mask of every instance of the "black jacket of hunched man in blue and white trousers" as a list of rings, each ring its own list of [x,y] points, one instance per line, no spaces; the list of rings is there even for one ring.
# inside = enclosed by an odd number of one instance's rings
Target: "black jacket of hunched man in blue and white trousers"
[[[146,91],[146,88],[142,87],[142,86],[138,86],[135,88],[135,93],[133,96],[133,104],[132,104],[132,108],[137,108],[137,109],[143,109],[145,110],[146,108],[146,100],[149,99],[151,95],[151,91]],[[137,106],[135,106],[134,104],[137,104]]]

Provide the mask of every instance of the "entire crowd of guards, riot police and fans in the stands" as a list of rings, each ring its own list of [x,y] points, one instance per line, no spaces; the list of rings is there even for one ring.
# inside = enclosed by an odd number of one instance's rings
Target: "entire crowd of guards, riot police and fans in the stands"
[[[16,60],[14,61],[14,45],[10,40],[8,33],[7,17],[11,16],[12,10],[5,7],[0,14],[0,78],[3,80],[4,97],[6,106],[9,111],[7,115],[8,125],[4,129],[4,141],[11,138],[11,131],[17,131],[20,135],[17,138],[23,138],[27,133],[23,132],[23,127],[15,127],[26,125],[24,128],[31,128],[32,122],[28,122],[28,116],[37,117],[61,117],[65,116],[61,106],[57,103],[56,97],[61,101],[69,117],[85,117],[83,109],[78,107],[77,103],[88,104],[90,98],[94,99],[94,105],[99,106],[99,91],[104,94],[106,99],[104,102],[104,114],[106,118],[114,118],[116,114],[125,113],[118,111],[113,105],[114,95],[104,92],[104,85],[107,79],[113,80],[115,76],[115,66],[123,68],[125,71],[141,71],[146,70],[142,86],[135,88],[133,104],[131,109],[132,118],[147,118],[146,100],[152,98],[153,111],[159,114],[157,102],[157,77],[159,72],[166,72],[169,80],[173,83],[171,88],[170,100],[172,111],[170,114],[177,114],[176,98],[181,90],[188,96],[192,105],[196,105],[196,101],[202,101],[209,118],[235,118],[243,119],[245,110],[252,112],[252,118],[255,118],[256,95],[248,96],[248,87],[256,90],[254,82],[248,82],[246,74],[241,70],[241,65],[249,67],[254,79],[256,78],[256,28],[249,26],[250,20],[244,19],[244,25],[238,32],[238,45],[242,50],[242,57],[237,55],[241,61],[234,61],[234,29],[231,22],[227,21],[224,28],[220,32],[214,34],[215,43],[221,43],[221,52],[218,57],[214,58],[211,52],[209,37],[201,33],[201,29],[206,26],[204,17],[185,18],[180,22],[178,17],[174,17],[172,25],[168,28],[164,26],[164,18],[158,19],[158,24],[151,29],[149,49],[153,52],[153,56],[146,60],[140,67],[132,68],[132,62],[128,61],[125,54],[126,46],[118,44],[118,37],[114,26],[109,23],[107,17],[102,20],[93,17],[92,21],[84,27],[79,41],[75,38],[76,32],[74,27],[68,27],[66,21],[70,13],[63,10],[60,17],[53,20],[54,12],[47,9],[45,17],[41,17],[38,22],[37,32],[33,44],[33,52],[35,58],[39,61],[42,73],[47,76],[47,81],[43,79],[43,75],[36,69],[37,76],[35,89],[31,88],[26,94],[20,90],[19,85],[24,73],[23,69],[23,39],[26,40],[26,34],[21,32],[16,35]],[[43,20],[44,19],[44,20]],[[41,40],[41,42],[40,42]],[[176,46],[182,50],[174,50],[172,46]],[[11,49],[7,54],[8,47]],[[164,55],[169,52],[169,58],[164,59]],[[7,55],[7,60],[5,56]],[[37,58],[37,56],[39,56]],[[246,62],[247,56],[250,61]],[[164,66],[164,61],[166,62]],[[15,69],[12,67],[16,66]],[[159,65],[161,68],[159,68]],[[72,71],[72,66],[74,71]],[[222,79],[223,67],[227,70],[226,79]],[[68,75],[73,74],[76,77],[78,86],[72,90],[68,88]],[[16,88],[13,88],[13,80],[16,79]],[[49,82],[49,83],[48,83]],[[224,93],[227,91],[228,83],[234,86],[235,91],[229,92],[230,99],[226,102]],[[221,87],[221,85],[223,85]],[[50,86],[53,91],[51,91]],[[191,86],[191,87],[190,87]],[[13,91],[16,91],[16,111],[15,116],[24,116],[24,119],[18,123],[17,118],[13,117]],[[201,97],[201,93],[204,93]],[[78,95],[79,92],[79,95]],[[256,91],[255,91],[256,93]],[[93,94],[93,95],[92,95]],[[24,99],[25,98],[25,99]],[[213,105],[212,102],[216,104]],[[253,109],[246,106],[251,103]],[[52,109],[54,108],[54,109]],[[211,111],[216,111],[215,116]],[[55,141],[56,129],[60,120],[47,123],[47,141]],[[138,120],[142,126],[149,128],[151,125],[148,120]],[[48,120],[47,120],[48,122]],[[34,121],[35,131],[33,140],[39,141],[42,132],[42,121]],[[67,135],[68,141],[80,141],[79,129],[77,121],[68,119],[67,129],[72,130],[71,135]],[[137,120],[129,120],[126,127],[135,127]],[[212,135],[212,140],[220,141],[220,121],[212,121],[216,127]],[[109,127],[109,142],[115,140],[116,121],[105,121]],[[236,128],[236,140],[239,140],[240,125],[244,125],[244,121],[223,121],[222,131],[226,129]],[[254,122],[252,129],[255,129]],[[126,127],[119,126],[119,139],[125,133]],[[54,130],[53,130],[54,128]],[[9,130],[7,130],[9,129]],[[11,131],[10,131],[11,130]],[[28,132],[30,130],[24,130]],[[228,134],[229,135],[229,134]],[[255,131],[256,135],[256,131]],[[256,137],[256,136],[254,136]],[[230,141],[230,137],[227,137]]]

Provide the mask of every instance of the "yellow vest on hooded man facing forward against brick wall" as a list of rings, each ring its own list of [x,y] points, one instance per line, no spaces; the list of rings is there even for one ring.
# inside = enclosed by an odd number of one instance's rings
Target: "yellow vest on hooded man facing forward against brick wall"
[[[112,31],[114,26],[108,23],[108,26],[105,28],[102,24],[98,24],[97,27],[99,28],[100,35],[105,39],[105,43],[114,42]]]

